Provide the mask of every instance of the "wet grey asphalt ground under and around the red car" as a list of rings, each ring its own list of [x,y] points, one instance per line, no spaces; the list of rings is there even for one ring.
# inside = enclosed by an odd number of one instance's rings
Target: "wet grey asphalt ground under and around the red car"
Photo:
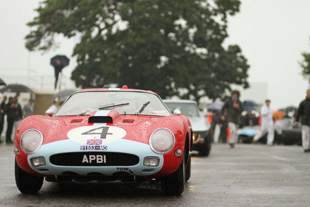
[[[0,144],[0,206],[310,206],[310,153],[300,146],[215,144],[209,157],[192,158],[181,196],[160,184],[44,181],[23,195],[14,178],[13,145]]]

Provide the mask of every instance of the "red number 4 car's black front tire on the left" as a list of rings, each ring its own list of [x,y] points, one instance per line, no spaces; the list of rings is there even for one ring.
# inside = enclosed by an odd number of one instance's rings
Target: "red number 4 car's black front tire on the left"
[[[15,182],[18,190],[24,194],[37,193],[43,185],[44,177],[36,177],[25,173],[15,159]]]

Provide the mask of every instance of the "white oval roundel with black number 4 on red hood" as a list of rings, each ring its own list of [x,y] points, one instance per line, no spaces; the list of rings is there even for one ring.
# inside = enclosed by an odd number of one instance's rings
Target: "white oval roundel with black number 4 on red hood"
[[[71,129],[67,136],[82,145],[103,145],[122,139],[126,131],[113,126],[83,126]]]

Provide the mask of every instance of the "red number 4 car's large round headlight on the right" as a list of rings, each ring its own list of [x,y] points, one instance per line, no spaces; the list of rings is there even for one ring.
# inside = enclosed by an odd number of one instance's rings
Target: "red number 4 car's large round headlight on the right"
[[[160,128],[151,134],[149,144],[153,152],[166,154],[172,150],[175,144],[175,137],[169,129]]]

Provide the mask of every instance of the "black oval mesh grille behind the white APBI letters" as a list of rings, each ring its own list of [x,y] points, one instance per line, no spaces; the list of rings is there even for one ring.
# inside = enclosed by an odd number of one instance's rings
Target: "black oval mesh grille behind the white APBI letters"
[[[88,163],[83,162],[84,155]],[[90,162],[90,155],[96,159]],[[105,163],[97,163],[97,155],[105,155]],[[59,166],[133,166],[139,163],[139,157],[120,152],[69,152],[51,155],[50,162]]]

